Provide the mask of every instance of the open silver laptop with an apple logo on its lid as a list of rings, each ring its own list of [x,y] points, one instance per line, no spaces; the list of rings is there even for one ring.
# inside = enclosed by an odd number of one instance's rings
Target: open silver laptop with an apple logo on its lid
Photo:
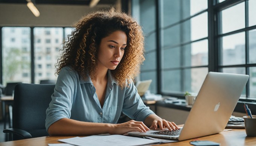
[[[187,140],[222,132],[248,81],[248,75],[209,72],[178,134],[164,130],[128,132],[130,135]],[[171,114],[170,114],[171,116]]]

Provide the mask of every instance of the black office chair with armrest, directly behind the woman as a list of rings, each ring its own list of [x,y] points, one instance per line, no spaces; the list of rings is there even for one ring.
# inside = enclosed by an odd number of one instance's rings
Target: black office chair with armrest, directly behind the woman
[[[46,109],[55,84],[17,84],[12,109],[13,128],[3,130],[12,140],[49,135],[45,128]]]

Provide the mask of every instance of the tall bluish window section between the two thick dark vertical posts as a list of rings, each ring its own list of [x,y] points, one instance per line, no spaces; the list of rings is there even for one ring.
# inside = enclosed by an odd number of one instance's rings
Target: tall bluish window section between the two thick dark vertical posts
[[[161,93],[197,93],[208,72],[207,1],[161,0]],[[163,8],[162,8],[163,7]]]

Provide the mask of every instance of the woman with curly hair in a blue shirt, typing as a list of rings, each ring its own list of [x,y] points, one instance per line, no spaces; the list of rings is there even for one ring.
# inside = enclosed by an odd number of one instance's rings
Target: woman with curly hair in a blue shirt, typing
[[[141,27],[125,13],[110,9],[82,17],[58,62],[58,79],[46,110],[49,134],[179,129],[146,107],[133,84],[145,59],[143,41]],[[116,124],[121,112],[136,121]]]

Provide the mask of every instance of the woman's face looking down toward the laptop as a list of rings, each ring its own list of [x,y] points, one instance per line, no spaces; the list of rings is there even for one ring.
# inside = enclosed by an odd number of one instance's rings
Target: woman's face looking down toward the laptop
[[[127,36],[125,32],[117,30],[102,38],[98,49],[98,69],[116,69],[125,52]]]

